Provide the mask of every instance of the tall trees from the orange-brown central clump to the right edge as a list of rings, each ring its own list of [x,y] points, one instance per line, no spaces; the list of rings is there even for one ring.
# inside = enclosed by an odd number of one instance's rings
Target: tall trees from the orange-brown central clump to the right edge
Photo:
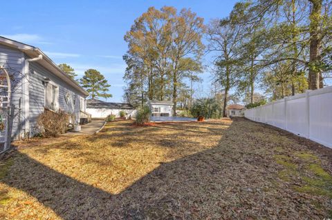
[[[222,97],[223,116],[234,96],[255,103],[257,91],[280,99],[322,88],[331,78],[331,21],[327,0],[241,1],[228,17],[207,25],[188,9],[151,7],[124,36],[124,99],[134,106],[156,99],[190,108],[208,52],[212,85],[219,87],[212,97]]]

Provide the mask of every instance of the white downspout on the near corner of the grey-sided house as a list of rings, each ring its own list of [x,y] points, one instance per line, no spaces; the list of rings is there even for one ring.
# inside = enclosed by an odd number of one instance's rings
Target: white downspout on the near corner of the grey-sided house
[[[28,135],[30,137],[30,94],[29,94],[29,84],[30,84],[30,76],[29,76],[29,64],[30,62],[35,62],[43,59],[43,55],[39,54],[38,57],[32,59],[24,60],[24,78],[23,78],[23,116],[24,116],[24,137]]]

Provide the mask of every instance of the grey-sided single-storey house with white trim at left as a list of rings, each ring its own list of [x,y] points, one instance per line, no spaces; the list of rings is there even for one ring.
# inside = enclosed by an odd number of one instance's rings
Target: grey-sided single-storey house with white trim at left
[[[12,137],[33,136],[39,132],[37,118],[45,109],[75,114],[86,110],[89,95],[39,48],[0,37],[0,65],[10,74],[12,104],[16,111]]]

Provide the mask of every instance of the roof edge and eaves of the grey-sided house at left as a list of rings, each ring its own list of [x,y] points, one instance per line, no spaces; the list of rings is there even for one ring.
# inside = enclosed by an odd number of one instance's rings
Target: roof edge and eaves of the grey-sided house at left
[[[63,72],[62,70],[60,70],[59,66],[57,66],[57,64],[55,64],[39,48],[35,48],[34,46],[30,46],[26,43],[14,41],[12,39],[8,39],[8,38],[2,37],[2,36],[0,36],[0,44],[2,44],[4,46],[8,46],[10,48],[15,48],[17,50],[21,50],[21,52],[24,52],[31,58],[35,58],[35,57],[38,57],[39,55],[42,55],[43,59],[37,61],[37,63],[44,66],[44,68],[46,68],[47,70],[49,70],[50,72],[55,74],[55,76],[59,77],[60,79],[62,79],[66,83],[68,83],[69,85],[73,86],[73,88],[75,88],[76,90],[82,92],[86,96],[89,95],[89,93],[86,92],[86,90],[84,90],[84,88],[82,88],[82,86],[80,86],[80,84],[78,84],[77,81],[75,81],[74,79],[69,77],[69,75],[66,74],[66,72]]]

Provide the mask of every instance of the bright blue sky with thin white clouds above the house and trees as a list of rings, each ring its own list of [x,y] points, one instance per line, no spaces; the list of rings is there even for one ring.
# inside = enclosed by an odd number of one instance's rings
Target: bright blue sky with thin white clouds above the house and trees
[[[79,76],[95,68],[111,84],[113,98],[122,101],[127,51],[124,34],[150,6],[191,8],[208,23],[228,16],[235,0],[186,1],[3,1],[0,35],[42,49],[55,63],[68,63]],[[210,55],[205,57],[206,65]],[[201,74],[203,93],[210,87],[210,73]]]

